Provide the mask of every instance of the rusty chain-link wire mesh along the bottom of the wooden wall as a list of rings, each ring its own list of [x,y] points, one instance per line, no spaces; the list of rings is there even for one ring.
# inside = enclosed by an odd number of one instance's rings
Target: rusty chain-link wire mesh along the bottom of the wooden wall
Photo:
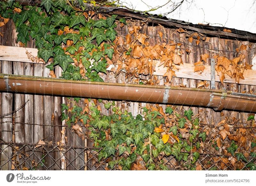
[[[7,148],[12,148],[10,157],[5,153]],[[6,170],[4,167],[8,164],[11,164],[12,170],[110,170],[108,162],[116,157],[99,161],[98,151],[99,149],[93,147],[1,142],[1,157],[8,157],[8,160],[1,159],[0,170]],[[224,155],[200,154],[200,159],[188,167],[183,160],[177,161],[173,156],[163,157],[164,165],[169,170],[195,169],[199,164],[202,170],[236,170],[227,159]],[[249,170],[246,165],[252,161],[253,158],[247,163],[241,161],[240,169]],[[118,163],[112,168],[121,169]]]

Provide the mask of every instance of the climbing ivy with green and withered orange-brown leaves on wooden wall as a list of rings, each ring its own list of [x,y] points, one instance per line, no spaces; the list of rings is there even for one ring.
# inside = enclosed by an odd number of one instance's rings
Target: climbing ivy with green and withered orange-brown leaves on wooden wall
[[[18,32],[17,41],[21,46],[26,46],[31,38],[34,39],[39,50],[38,56],[27,52],[28,58],[37,63],[43,61],[52,77],[56,77],[54,68],[60,66],[63,70],[60,78],[103,81],[100,73],[106,74],[106,67],[114,64],[117,65],[114,69],[116,75],[125,71],[127,78],[140,79],[137,83],[158,84],[159,80],[153,72],[156,65],[154,60],[160,60],[159,66],[167,68],[164,74],[167,80],[165,85],[171,85],[176,65],[182,64],[181,43],[172,41],[150,46],[148,36],[141,33],[140,25],[135,24],[128,27],[129,32],[124,41],[122,36],[117,36],[115,29],[118,24],[120,27],[125,26],[126,19],[119,19],[117,15],[105,17],[94,11],[84,12],[82,1],[78,1],[76,6],[71,3],[65,0],[42,0],[40,5],[22,7],[12,0],[1,1],[0,15],[4,22],[0,26],[12,19]],[[177,31],[185,32],[183,29]],[[164,40],[162,32],[158,32],[158,35]],[[187,36],[190,43],[193,35]],[[197,36],[196,44],[199,43],[200,36]],[[246,47],[241,46],[237,52]],[[186,49],[186,52],[190,51]],[[203,61],[206,62],[209,55],[203,54],[201,58],[200,63],[195,64],[195,71],[204,71]],[[241,63],[244,59],[242,55],[232,63],[227,58],[216,58],[220,72],[234,76],[237,81],[242,79],[244,69],[251,68],[248,64]],[[230,69],[233,70],[234,67],[236,73],[230,74]],[[149,79],[141,78],[141,74]],[[250,170],[256,169],[256,141],[253,139],[249,146],[245,145],[246,136],[250,135],[244,131],[243,126],[235,129],[230,125],[237,123],[236,119],[225,119],[216,126],[209,127],[202,126],[204,123],[200,121],[200,115],[182,107],[178,109],[167,105],[163,109],[159,105],[147,104],[142,108],[141,114],[133,116],[114,101],[98,99],[92,102],[85,99],[84,106],[79,105],[79,101],[80,98],[68,99],[67,104],[61,105],[62,120],[66,120],[68,127],[72,127],[82,139],[85,134],[79,123],[84,124],[89,131],[86,136],[93,141],[94,147],[99,148],[98,160],[107,161],[108,169],[168,170],[168,158],[172,155],[186,169],[201,170],[198,160],[205,149],[224,154],[221,162],[225,163],[220,165],[221,168],[230,162],[237,169],[242,169],[243,163],[248,163],[246,167]],[[111,114],[103,114],[100,103]],[[248,117],[248,123],[252,127],[253,119],[253,114]],[[224,144],[225,139],[229,139],[231,143]],[[215,170],[217,166],[208,168]]]

